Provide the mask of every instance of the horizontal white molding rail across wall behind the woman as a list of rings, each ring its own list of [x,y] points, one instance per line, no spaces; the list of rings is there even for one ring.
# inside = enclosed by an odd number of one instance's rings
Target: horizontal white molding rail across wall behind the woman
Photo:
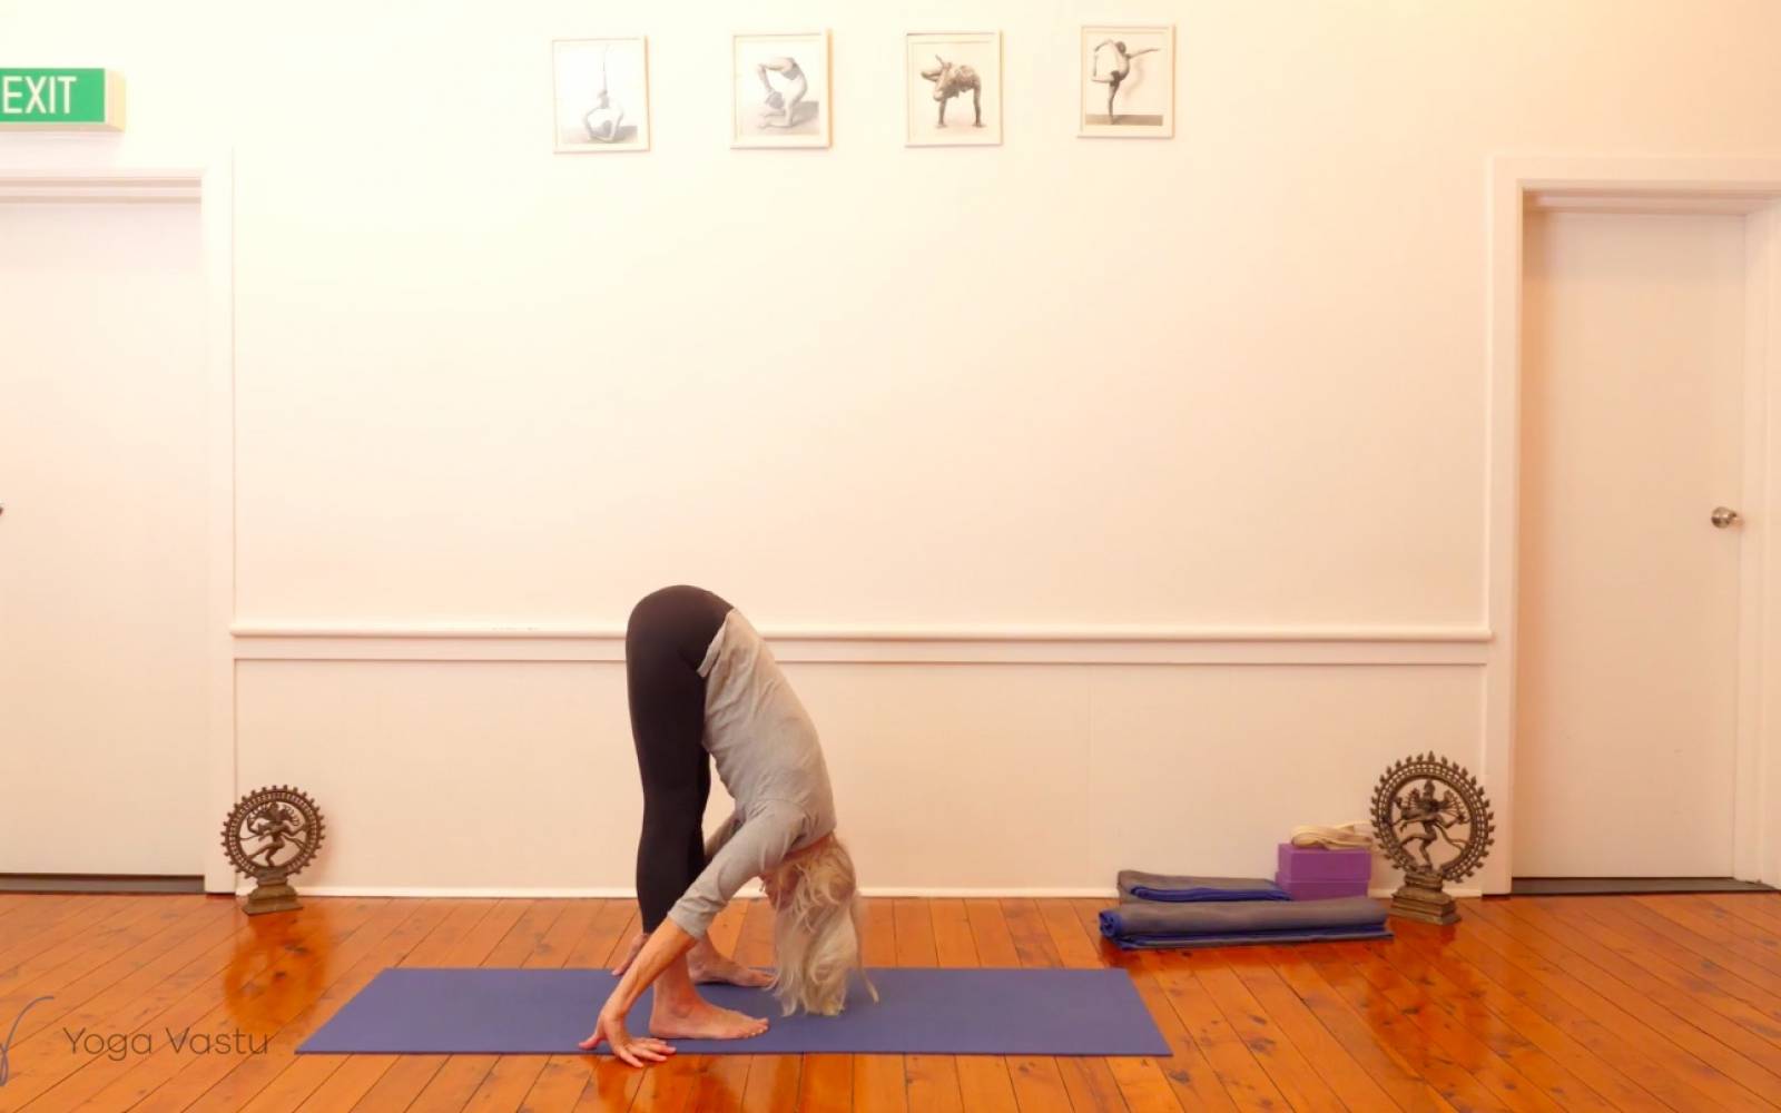
[[[625,659],[622,625],[237,621],[237,661]],[[785,662],[1484,664],[1491,632],[1428,627],[766,627]]]

